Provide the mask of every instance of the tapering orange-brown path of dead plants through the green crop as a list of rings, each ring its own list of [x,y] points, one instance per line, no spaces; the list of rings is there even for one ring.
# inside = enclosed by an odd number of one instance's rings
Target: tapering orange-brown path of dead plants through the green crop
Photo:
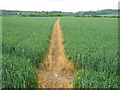
[[[73,64],[66,59],[58,18],[54,24],[49,52],[38,69],[39,88],[72,88]]]

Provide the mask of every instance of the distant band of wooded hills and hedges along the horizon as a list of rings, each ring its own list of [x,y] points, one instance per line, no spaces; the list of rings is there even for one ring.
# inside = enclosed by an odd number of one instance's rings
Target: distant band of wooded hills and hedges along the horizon
[[[43,17],[43,16],[92,16],[92,15],[112,15],[114,17],[118,16],[120,10],[117,9],[105,9],[98,11],[78,11],[78,12],[62,12],[62,11],[16,11],[16,10],[2,10],[2,15],[22,15],[22,16],[32,16],[32,17]]]

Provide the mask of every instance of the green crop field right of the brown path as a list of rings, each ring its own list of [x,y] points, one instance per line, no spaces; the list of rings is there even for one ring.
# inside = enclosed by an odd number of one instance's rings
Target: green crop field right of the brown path
[[[74,87],[118,87],[118,21],[61,18],[66,56],[78,73]]]

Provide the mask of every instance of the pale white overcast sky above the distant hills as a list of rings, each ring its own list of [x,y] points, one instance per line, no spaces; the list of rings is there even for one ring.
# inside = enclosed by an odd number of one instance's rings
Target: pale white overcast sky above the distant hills
[[[34,11],[89,11],[117,9],[120,0],[1,0],[0,9]]]

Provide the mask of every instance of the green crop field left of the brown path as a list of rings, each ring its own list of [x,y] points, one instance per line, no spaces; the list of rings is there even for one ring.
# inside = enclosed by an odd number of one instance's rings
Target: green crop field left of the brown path
[[[3,17],[3,88],[36,87],[56,18]]]

